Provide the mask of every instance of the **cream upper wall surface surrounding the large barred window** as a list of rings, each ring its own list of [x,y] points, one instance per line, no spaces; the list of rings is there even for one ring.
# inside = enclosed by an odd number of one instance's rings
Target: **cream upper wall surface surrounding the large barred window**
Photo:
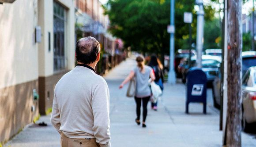
[[[73,0],[57,0],[66,8],[65,56],[67,69],[75,66],[75,8]],[[53,0],[39,0],[39,20],[42,28],[42,43],[39,44],[38,72],[40,77],[48,77],[53,71]],[[48,32],[51,33],[51,51],[48,50]]]

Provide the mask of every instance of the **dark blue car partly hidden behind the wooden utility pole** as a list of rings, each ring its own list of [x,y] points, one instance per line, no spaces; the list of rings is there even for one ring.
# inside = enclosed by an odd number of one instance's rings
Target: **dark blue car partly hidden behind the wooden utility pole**
[[[256,51],[245,51],[242,52],[242,75],[245,75],[245,72],[248,68],[256,66]],[[215,80],[212,82],[212,96],[214,101],[214,106],[216,108],[220,107],[220,81],[221,73],[218,73]]]

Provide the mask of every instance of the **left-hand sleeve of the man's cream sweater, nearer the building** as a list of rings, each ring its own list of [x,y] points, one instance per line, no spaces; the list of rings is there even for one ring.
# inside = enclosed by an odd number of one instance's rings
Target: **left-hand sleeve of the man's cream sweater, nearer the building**
[[[58,133],[61,134],[61,131],[60,131],[60,111],[58,109],[55,93],[54,93],[54,97],[53,97],[53,111],[52,111],[52,115],[51,115],[51,122],[52,122],[54,128],[58,131]]]

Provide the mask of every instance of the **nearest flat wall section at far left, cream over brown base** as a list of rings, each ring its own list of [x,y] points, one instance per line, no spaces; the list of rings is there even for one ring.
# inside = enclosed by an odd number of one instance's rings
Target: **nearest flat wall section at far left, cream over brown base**
[[[0,142],[14,136],[38,115],[38,0],[0,5]],[[31,111],[34,106],[35,111]]]

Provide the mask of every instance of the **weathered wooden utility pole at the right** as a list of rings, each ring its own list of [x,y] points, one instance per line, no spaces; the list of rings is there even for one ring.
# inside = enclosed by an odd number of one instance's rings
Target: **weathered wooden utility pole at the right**
[[[241,147],[241,0],[228,0],[227,147]]]

